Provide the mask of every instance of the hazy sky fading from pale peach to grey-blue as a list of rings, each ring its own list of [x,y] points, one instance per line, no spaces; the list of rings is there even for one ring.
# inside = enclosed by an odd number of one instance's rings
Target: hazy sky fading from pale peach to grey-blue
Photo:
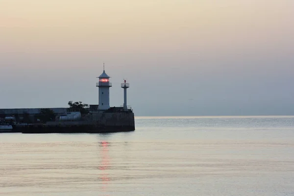
[[[294,0],[0,0],[0,108],[294,115]]]

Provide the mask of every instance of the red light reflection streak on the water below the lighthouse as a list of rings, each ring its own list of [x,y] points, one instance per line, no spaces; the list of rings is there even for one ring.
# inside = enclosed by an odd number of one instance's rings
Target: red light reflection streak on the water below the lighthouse
[[[100,143],[102,147],[102,150],[100,150],[101,152],[101,164],[99,166],[99,170],[101,170],[101,175],[100,175],[100,180],[102,181],[102,191],[105,192],[107,191],[107,185],[110,181],[109,179],[109,173],[107,173],[106,171],[109,169],[109,154],[108,154],[108,146],[109,146],[109,143],[108,142],[101,142]]]

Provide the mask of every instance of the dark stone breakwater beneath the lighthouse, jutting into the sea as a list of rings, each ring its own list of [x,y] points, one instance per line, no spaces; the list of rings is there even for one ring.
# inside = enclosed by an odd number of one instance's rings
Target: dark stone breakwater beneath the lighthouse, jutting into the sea
[[[23,118],[24,109],[13,110],[0,110],[6,111],[7,114],[13,111],[18,115],[18,119]],[[112,133],[112,132],[125,132],[135,130],[134,113],[132,110],[122,111],[120,109],[112,109],[114,112],[97,112],[90,111],[88,114],[78,121],[49,121],[46,123],[34,122],[34,123],[16,123],[13,124],[13,129],[6,132],[21,132],[21,133]],[[35,119],[35,114],[38,109],[26,110],[29,114],[28,119]],[[55,110],[56,111],[56,110]],[[62,109],[59,111],[63,111]],[[61,114],[61,112],[57,114]],[[2,113],[3,114],[3,113]]]

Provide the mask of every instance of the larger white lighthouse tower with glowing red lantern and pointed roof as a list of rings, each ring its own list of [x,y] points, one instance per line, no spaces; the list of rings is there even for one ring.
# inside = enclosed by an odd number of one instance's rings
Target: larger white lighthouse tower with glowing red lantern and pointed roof
[[[98,110],[107,110],[110,108],[109,105],[109,88],[112,87],[112,84],[109,82],[109,75],[105,73],[104,63],[103,63],[103,73],[98,77],[99,82],[96,83],[96,86],[99,87],[99,105]]]

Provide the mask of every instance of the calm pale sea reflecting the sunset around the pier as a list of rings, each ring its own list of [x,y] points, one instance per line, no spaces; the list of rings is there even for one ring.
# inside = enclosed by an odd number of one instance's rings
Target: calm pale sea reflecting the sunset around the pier
[[[294,196],[294,116],[136,117],[111,134],[0,134],[3,196]]]

